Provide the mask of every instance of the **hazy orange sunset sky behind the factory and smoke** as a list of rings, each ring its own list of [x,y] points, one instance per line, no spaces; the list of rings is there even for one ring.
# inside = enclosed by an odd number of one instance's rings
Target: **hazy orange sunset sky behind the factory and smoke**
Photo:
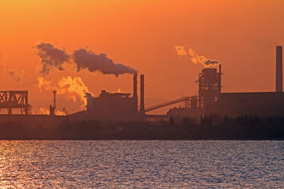
[[[275,45],[284,43],[284,1],[75,1],[0,3],[0,88],[28,90],[35,112],[48,108],[51,91],[40,91],[40,59],[33,46],[50,42],[72,52],[87,46],[136,68],[146,77],[146,107],[197,93],[201,65],[179,57],[175,45],[222,62],[222,91],[273,91]],[[5,70],[24,71],[16,84]],[[118,88],[132,93],[132,76],[75,70],[52,71],[46,79],[80,76],[96,96]],[[58,108],[80,110],[58,96]],[[165,111],[165,110],[164,110]]]

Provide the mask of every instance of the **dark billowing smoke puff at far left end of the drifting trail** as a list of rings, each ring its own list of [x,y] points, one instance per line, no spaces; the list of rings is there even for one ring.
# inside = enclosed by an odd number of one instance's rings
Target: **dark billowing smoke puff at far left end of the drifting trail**
[[[36,48],[38,50],[40,62],[43,66],[40,71],[43,75],[48,75],[50,69],[53,67],[58,70],[64,70],[62,64],[64,62],[69,62],[70,55],[68,55],[64,49],[59,49],[50,43],[41,42],[36,45]]]

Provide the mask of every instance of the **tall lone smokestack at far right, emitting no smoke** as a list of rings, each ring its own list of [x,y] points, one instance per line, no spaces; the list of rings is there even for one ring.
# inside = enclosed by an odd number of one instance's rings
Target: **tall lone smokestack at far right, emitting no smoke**
[[[276,92],[283,91],[283,74],[282,74],[282,46],[276,46]]]

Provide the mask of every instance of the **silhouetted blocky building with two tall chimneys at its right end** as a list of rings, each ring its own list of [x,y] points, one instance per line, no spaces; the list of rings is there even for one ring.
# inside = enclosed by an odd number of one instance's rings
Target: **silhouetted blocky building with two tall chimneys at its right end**
[[[138,113],[137,74],[133,74],[133,96],[131,93],[109,93],[102,91],[98,97],[86,93],[87,111],[68,115],[72,120],[143,120],[144,119],[144,75],[141,75],[141,101]]]

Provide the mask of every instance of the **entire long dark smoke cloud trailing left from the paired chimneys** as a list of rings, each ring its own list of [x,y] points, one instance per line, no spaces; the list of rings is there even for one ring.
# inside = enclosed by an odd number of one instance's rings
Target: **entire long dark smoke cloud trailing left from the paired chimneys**
[[[90,72],[99,71],[102,74],[114,74],[115,76],[119,76],[119,74],[134,74],[137,72],[132,67],[114,63],[114,61],[104,53],[96,54],[84,48],[75,50],[73,55],[68,55],[64,48],[60,49],[46,42],[41,42],[36,48],[43,66],[40,71],[43,75],[48,75],[50,69],[53,67],[60,71],[64,70],[62,64],[65,62],[74,62],[77,71],[87,69]]]

